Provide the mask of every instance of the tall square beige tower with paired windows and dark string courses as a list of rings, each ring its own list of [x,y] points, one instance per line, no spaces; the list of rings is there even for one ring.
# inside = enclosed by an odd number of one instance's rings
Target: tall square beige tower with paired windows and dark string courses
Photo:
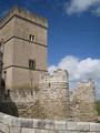
[[[47,19],[14,7],[0,21],[7,89],[32,88],[47,72]]]

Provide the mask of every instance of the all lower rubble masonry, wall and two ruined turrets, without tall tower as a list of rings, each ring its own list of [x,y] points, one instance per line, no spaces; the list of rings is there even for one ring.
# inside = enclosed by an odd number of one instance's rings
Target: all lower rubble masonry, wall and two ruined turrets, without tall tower
[[[43,73],[33,89],[10,90],[0,100],[0,111],[28,119],[97,121],[96,90],[92,81],[82,82],[71,94],[69,74],[57,70]]]

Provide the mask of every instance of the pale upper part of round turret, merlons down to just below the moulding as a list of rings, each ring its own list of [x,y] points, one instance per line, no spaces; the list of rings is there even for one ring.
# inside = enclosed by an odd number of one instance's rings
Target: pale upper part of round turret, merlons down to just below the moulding
[[[67,88],[69,84],[69,73],[66,70],[58,69],[53,71],[52,75],[50,73],[43,73],[40,75],[40,85],[46,88],[46,85],[58,86],[58,88]]]

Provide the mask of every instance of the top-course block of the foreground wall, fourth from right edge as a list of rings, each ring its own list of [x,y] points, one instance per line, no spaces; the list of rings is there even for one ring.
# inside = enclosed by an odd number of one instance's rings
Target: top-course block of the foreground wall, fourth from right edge
[[[54,129],[64,131],[67,130],[67,123],[64,121],[56,121]]]

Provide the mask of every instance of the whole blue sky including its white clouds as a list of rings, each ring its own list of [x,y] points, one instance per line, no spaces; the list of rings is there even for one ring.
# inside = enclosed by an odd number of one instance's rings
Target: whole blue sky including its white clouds
[[[49,70],[68,69],[71,82],[92,78],[100,93],[100,0],[0,0],[0,17],[14,4],[48,19]]]

